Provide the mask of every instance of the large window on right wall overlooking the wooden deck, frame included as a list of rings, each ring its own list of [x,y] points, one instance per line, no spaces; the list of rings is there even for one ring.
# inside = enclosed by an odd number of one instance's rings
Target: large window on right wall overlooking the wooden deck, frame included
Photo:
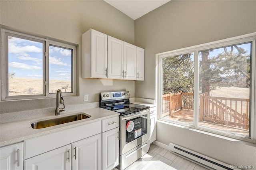
[[[157,54],[159,118],[255,142],[255,40],[253,33]]]

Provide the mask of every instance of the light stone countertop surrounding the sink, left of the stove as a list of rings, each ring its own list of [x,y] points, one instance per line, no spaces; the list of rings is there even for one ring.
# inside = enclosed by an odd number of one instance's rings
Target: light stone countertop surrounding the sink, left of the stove
[[[67,115],[74,115],[76,113],[86,113],[91,117],[87,119],[82,119],[79,121],[64,123],[61,125],[40,128],[40,129],[33,129],[30,125],[31,123],[38,120],[42,121],[46,119],[54,119],[57,117],[64,117]],[[6,146],[9,144],[14,144],[17,142],[22,142],[29,138],[34,138],[44,134],[49,134],[52,132],[57,132],[60,130],[77,127],[77,126],[88,124],[88,123],[93,123],[95,121],[101,121],[102,119],[108,119],[110,117],[119,116],[119,115],[120,114],[118,112],[109,111],[107,109],[96,107],[96,108],[90,108],[90,109],[61,112],[59,116],[55,116],[53,113],[50,116],[47,115],[43,117],[34,117],[30,119],[21,119],[21,120],[16,119],[15,121],[12,121],[12,122],[1,123],[0,124],[0,147]]]

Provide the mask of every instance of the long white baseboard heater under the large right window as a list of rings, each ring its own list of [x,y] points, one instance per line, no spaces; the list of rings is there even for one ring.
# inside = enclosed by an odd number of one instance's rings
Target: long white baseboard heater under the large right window
[[[223,162],[220,162],[220,161],[210,158],[208,156],[199,154],[192,150],[183,148],[182,146],[178,146],[176,144],[170,143],[169,148],[170,148],[170,151],[174,152],[175,154],[189,158],[190,160],[194,160],[196,162],[199,162],[200,164],[203,164],[205,166],[208,166],[208,167],[216,169],[216,170],[233,170],[234,169],[234,168],[232,168],[232,166],[230,166],[228,164],[225,164]],[[236,170],[239,170],[239,169],[236,168]]]

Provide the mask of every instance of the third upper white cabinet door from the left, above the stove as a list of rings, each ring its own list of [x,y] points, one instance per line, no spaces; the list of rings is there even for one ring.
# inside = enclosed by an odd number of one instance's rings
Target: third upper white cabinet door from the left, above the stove
[[[124,79],[136,80],[136,46],[124,42]]]

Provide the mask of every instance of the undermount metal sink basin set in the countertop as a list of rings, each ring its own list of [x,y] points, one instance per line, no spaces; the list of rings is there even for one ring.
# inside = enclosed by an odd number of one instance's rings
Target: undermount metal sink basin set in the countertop
[[[31,127],[32,128],[46,128],[46,127],[51,127],[51,126],[55,126],[55,125],[60,125],[63,123],[87,119],[89,117],[91,117],[91,116],[87,115],[85,113],[77,113],[76,115],[59,117],[59,118],[55,118],[55,119],[48,119],[45,121],[37,121],[37,122],[31,123]]]

